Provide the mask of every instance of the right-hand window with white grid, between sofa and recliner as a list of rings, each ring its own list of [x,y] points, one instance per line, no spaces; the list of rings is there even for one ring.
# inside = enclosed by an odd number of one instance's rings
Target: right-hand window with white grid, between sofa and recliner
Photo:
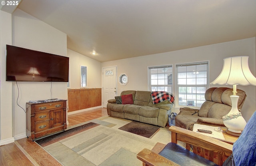
[[[209,86],[208,62],[176,65],[176,101],[180,106],[200,107]]]

